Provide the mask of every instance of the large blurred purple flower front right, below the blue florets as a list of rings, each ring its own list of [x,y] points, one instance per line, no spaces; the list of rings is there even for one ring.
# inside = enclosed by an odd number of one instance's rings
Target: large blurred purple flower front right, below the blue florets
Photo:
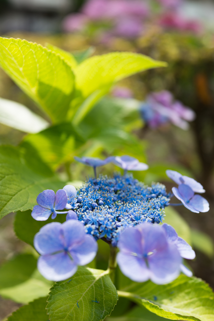
[[[164,229],[151,223],[125,229],[118,242],[117,262],[123,274],[135,282],[172,282],[182,263],[177,246],[168,242]]]

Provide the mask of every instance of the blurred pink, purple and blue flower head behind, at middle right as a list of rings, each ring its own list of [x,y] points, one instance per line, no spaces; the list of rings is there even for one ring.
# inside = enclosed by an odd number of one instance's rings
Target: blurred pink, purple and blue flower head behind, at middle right
[[[169,91],[159,91],[147,96],[146,101],[140,106],[140,113],[144,121],[151,128],[156,128],[167,122],[187,130],[195,118],[192,109],[183,106],[180,101],[174,101]]]

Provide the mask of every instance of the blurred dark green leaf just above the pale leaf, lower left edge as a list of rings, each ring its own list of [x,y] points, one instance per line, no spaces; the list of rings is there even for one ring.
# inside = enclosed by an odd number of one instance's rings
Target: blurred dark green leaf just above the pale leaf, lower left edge
[[[36,269],[34,256],[20,254],[0,267],[0,289],[27,281]]]

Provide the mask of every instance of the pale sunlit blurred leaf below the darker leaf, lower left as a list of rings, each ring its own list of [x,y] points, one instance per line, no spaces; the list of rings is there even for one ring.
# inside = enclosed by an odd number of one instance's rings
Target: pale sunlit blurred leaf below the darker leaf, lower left
[[[27,281],[9,288],[0,289],[0,295],[18,303],[27,304],[32,300],[46,297],[53,283],[46,280],[36,269]]]

